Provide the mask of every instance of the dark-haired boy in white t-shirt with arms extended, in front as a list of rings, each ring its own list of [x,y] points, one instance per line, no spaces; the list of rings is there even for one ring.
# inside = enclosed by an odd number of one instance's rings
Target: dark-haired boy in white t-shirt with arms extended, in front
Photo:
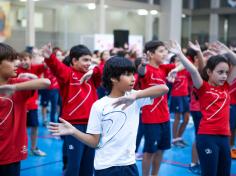
[[[152,104],[152,99],[168,92],[166,85],[155,85],[134,91],[135,67],[123,57],[112,57],[104,67],[103,84],[110,92],[97,100],[90,111],[87,133],[67,121],[50,123],[53,135],[72,135],[96,148],[96,176],[137,176],[135,143],[140,108]]]

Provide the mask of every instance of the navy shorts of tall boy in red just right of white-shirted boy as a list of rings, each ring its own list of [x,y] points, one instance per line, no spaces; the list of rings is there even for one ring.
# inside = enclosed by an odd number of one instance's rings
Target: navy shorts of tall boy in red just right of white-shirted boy
[[[143,127],[145,138],[143,152],[155,153],[171,147],[169,121],[160,124],[143,124]]]

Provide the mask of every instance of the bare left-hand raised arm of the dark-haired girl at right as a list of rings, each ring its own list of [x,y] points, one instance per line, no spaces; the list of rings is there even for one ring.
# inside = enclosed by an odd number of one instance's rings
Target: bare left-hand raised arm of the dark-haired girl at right
[[[184,67],[190,72],[194,86],[197,89],[200,88],[203,84],[201,75],[198,72],[197,68],[185,57],[180,45],[175,41],[170,41],[166,47],[170,52],[176,54],[179,57]]]

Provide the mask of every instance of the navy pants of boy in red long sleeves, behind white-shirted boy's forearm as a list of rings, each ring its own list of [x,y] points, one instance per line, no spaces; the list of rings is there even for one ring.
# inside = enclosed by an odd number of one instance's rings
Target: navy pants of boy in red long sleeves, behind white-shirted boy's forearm
[[[73,125],[86,132],[87,125]],[[65,136],[67,165],[64,176],[93,176],[95,149],[88,147],[73,136]]]

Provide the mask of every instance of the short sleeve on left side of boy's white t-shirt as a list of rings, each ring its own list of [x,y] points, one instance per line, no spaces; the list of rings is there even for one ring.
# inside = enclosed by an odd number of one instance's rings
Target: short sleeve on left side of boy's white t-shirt
[[[87,133],[90,134],[101,134],[102,127],[101,127],[101,113],[99,112],[96,103],[93,104],[90,115],[89,121],[87,126]]]

